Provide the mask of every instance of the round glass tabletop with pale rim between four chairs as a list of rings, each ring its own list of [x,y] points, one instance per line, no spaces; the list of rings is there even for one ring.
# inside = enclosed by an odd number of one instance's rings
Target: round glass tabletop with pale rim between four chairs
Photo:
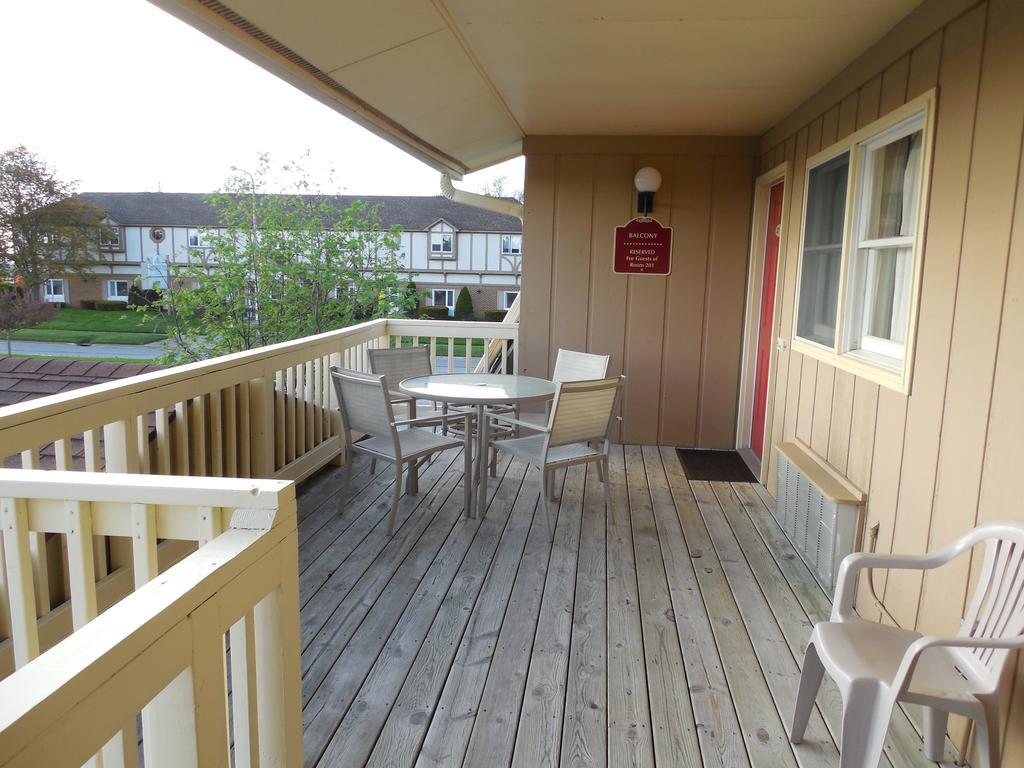
[[[434,374],[403,380],[398,388],[425,400],[457,406],[539,402],[555,396],[555,383],[507,374]]]

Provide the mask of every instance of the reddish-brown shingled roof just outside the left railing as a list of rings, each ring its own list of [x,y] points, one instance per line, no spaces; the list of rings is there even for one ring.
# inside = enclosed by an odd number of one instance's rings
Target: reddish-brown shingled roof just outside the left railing
[[[0,408],[162,368],[143,362],[3,357],[0,358]]]

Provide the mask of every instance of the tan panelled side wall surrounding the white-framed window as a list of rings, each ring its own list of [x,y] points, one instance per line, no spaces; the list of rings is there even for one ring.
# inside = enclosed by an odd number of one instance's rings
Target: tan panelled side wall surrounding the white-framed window
[[[909,396],[796,352],[780,353],[775,369],[776,441],[803,440],[867,493],[882,551],[923,552],[976,523],[1024,517],[1024,3],[953,5],[926,3],[916,26],[878,46],[893,55],[873,69],[869,56],[856,62],[762,142],[761,170],[794,163],[780,278],[790,338],[805,158],[938,87]],[[882,582],[884,601],[905,627],[953,631],[971,567],[894,574]],[[866,600],[860,607],[871,612]],[[1021,672],[1015,686],[1004,765],[1024,765]]]

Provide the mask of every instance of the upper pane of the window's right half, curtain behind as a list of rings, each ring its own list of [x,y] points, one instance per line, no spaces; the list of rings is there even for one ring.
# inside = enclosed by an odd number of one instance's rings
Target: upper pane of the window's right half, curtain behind
[[[863,240],[906,238],[918,221],[921,131],[867,150]]]

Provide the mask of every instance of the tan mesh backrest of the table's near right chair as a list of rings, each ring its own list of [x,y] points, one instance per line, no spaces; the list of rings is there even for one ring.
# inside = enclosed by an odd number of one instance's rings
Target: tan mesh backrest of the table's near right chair
[[[607,439],[622,381],[620,376],[561,382],[551,407],[549,446]]]

